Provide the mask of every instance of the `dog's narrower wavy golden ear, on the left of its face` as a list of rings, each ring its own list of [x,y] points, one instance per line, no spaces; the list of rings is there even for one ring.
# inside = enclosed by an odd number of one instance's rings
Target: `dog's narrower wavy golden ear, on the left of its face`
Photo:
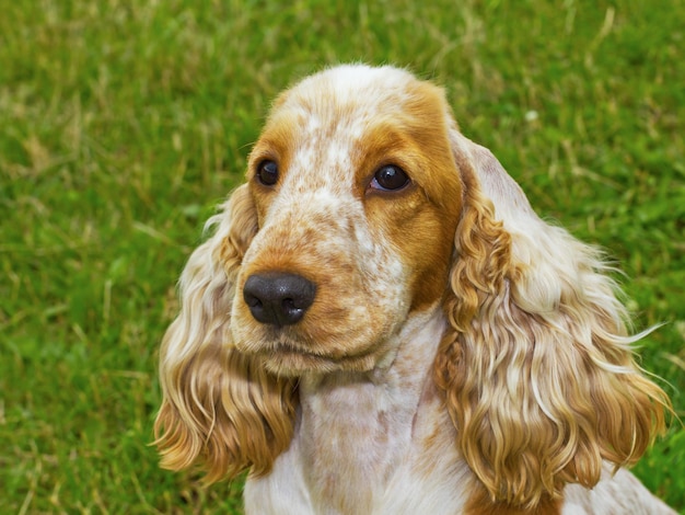
[[[162,467],[199,465],[208,482],[247,467],[267,472],[292,437],[294,387],[231,344],[235,277],[257,231],[247,186],[212,217],[213,236],[181,276],[182,308],[160,353],[163,401],[155,421]]]

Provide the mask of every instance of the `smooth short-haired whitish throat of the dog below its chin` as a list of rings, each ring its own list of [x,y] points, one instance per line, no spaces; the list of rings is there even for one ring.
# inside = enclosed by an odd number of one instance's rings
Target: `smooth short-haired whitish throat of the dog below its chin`
[[[431,374],[444,328],[436,306],[409,317],[384,366],[302,377],[297,446],[313,497],[326,500],[330,513],[361,513],[357,508],[373,503],[365,497],[382,492],[399,462],[429,437],[420,420],[439,403]]]

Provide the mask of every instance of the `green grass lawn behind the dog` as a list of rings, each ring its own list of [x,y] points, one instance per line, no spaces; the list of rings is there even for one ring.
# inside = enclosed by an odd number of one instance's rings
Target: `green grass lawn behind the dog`
[[[0,513],[240,513],[148,446],[158,345],[275,94],[324,66],[443,84],[543,216],[630,279],[685,412],[683,0],[18,0],[0,14]],[[678,424],[636,472],[685,513]]]

